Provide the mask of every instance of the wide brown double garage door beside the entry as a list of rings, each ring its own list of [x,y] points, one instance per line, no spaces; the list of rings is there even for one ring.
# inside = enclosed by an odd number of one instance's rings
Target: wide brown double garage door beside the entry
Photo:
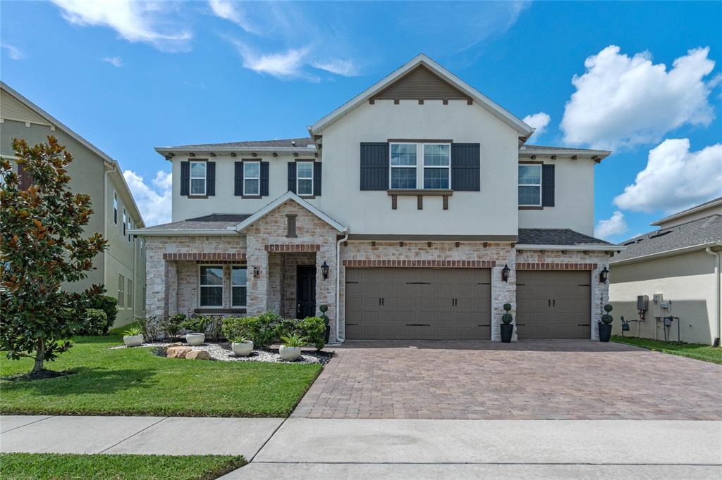
[[[346,338],[490,338],[490,271],[347,268]]]

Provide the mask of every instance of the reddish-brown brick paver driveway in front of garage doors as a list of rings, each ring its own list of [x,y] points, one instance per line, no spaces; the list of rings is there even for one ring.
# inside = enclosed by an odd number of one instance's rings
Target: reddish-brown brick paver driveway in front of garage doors
[[[347,342],[292,417],[722,419],[722,365],[588,340]]]

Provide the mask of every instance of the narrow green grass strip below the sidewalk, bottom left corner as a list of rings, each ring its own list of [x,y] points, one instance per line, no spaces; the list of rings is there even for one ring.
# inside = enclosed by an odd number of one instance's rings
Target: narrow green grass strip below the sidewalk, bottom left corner
[[[7,480],[217,479],[244,465],[243,457],[225,455],[2,453],[0,478]]]

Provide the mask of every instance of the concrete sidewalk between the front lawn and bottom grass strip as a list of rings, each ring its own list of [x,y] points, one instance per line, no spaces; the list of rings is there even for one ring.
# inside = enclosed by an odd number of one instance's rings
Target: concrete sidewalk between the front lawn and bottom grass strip
[[[1,416],[0,451],[243,455],[253,458],[282,418]]]

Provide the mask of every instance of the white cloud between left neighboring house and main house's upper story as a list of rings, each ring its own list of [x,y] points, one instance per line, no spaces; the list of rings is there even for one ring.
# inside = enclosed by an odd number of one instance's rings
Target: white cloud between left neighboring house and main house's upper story
[[[170,172],[158,170],[151,184],[132,170],[123,172],[131,193],[138,203],[146,226],[170,222],[170,199],[173,192],[173,177]]]

